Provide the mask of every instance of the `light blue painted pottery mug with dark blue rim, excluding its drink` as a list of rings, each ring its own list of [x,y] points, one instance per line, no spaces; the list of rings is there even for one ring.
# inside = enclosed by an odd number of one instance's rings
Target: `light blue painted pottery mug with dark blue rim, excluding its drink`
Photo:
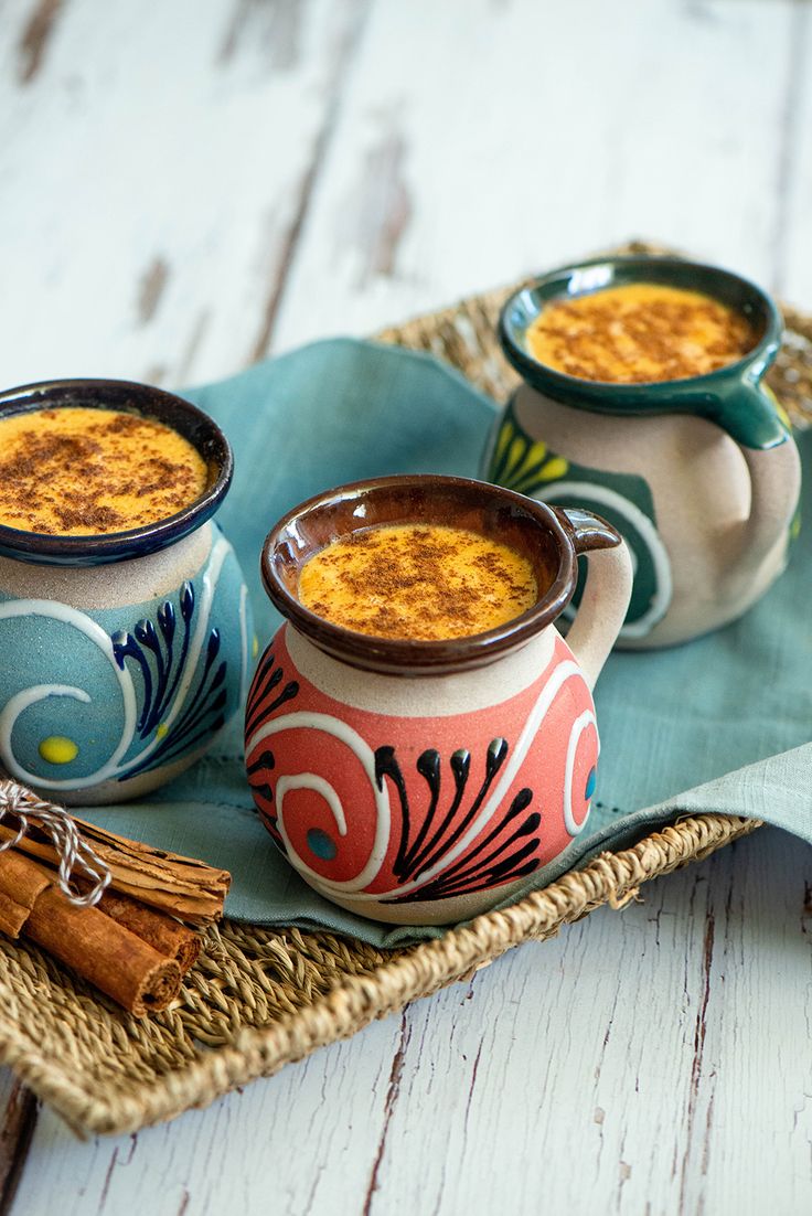
[[[0,766],[58,801],[117,803],[177,776],[242,704],[247,589],[212,516],[229,443],[191,402],[124,381],[0,394],[0,420],[68,406],[162,422],[203,457],[182,511],[105,535],[0,527]]]

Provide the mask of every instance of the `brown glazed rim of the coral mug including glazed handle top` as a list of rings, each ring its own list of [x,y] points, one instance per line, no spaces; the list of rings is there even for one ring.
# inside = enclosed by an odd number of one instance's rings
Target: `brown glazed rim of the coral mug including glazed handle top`
[[[451,523],[453,518],[439,518],[436,500],[449,497],[459,502],[461,511],[468,506],[497,506],[509,512],[511,518],[525,520],[534,528],[552,535],[558,553],[558,569],[552,584],[541,598],[521,615],[496,629],[467,637],[453,637],[441,641],[401,640],[376,637],[344,629],[325,620],[305,608],[292,593],[282,576],[284,558],[288,565],[297,570],[309,557],[318,552],[339,536],[365,527],[383,527],[387,524],[385,512],[370,523],[361,523],[357,529],[342,528],[321,544],[309,547],[303,540],[301,524],[318,511],[331,507],[377,501],[385,503],[388,499],[397,501],[410,491],[421,492],[423,501],[416,503],[415,523]],[[428,491],[428,492],[427,492]],[[432,503],[435,511],[432,511]],[[573,512],[570,518],[562,508],[553,508],[523,494],[478,482],[473,478],[440,477],[435,474],[413,474],[378,477],[363,482],[353,482],[317,494],[306,502],[299,503],[287,512],[270,530],[263,546],[260,572],[265,590],[274,606],[291,624],[321,651],[348,663],[350,666],[388,675],[418,676],[445,675],[464,671],[492,663],[509,651],[517,649],[551,625],[566,607],[575,593],[577,581],[579,553],[591,548],[608,548],[620,544],[615,530],[604,520],[587,512]],[[404,516],[394,514],[393,523],[405,522]],[[298,541],[298,546],[297,546]],[[298,548],[293,552],[294,546]]]

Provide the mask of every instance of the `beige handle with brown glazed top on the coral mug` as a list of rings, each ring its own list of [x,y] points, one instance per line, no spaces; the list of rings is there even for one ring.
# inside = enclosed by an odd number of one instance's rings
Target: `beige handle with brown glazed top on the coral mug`
[[[632,562],[626,542],[599,516],[576,507],[552,507],[576,554],[590,567],[566,644],[575,654],[590,687],[594,688],[626,619],[632,596]]]

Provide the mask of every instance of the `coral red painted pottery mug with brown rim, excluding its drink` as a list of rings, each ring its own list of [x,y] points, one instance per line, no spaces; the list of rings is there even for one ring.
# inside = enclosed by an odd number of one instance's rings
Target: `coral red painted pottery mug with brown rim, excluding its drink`
[[[300,603],[314,553],[399,523],[511,546],[532,567],[536,602],[445,641],[354,632]],[[554,621],[579,553],[590,573],[565,642]],[[284,516],[261,573],[287,621],[248,696],[248,781],[274,840],[317,891],[373,919],[445,924],[507,899],[583,829],[598,760],[591,689],[631,592],[611,527],[464,478],[379,478]]]

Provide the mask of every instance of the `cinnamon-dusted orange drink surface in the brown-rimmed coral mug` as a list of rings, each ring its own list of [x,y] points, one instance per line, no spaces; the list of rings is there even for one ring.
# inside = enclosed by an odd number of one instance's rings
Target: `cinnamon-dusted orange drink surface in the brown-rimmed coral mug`
[[[462,528],[394,524],[315,553],[299,599],[326,620],[377,637],[436,641],[483,634],[532,607],[530,563]]]

